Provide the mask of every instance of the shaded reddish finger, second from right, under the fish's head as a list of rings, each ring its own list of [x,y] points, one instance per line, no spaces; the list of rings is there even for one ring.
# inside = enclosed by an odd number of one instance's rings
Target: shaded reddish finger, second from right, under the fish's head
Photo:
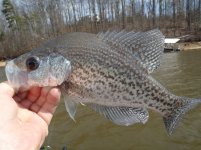
[[[47,95],[51,89],[52,87],[42,88],[40,97],[30,106],[30,110],[37,113],[40,110],[40,108],[43,106],[43,104],[45,103]]]

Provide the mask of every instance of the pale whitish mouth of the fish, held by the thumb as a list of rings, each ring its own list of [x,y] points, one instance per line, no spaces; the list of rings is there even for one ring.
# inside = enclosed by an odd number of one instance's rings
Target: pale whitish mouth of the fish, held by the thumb
[[[7,62],[5,67],[6,77],[15,91],[26,91],[28,86],[28,74],[25,71],[19,69],[13,60]]]

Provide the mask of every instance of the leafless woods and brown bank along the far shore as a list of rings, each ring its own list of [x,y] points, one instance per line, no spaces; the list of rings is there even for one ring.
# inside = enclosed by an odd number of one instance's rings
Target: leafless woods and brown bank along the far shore
[[[160,29],[201,35],[201,0],[1,0],[0,59],[66,32]],[[79,41],[78,41],[79,42]]]

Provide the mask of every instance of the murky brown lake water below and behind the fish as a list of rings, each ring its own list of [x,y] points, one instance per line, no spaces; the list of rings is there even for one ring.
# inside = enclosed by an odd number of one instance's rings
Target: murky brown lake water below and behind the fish
[[[0,80],[4,80],[0,68]],[[176,95],[201,98],[201,51],[167,53],[153,74]],[[3,79],[4,78],[4,79]],[[49,128],[45,145],[60,150],[200,150],[201,106],[188,112],[176,132],[168,136],[160,114],[149,111],[145,125],[117,126],[87,107],[79,106],[76,123],[61,102]]]

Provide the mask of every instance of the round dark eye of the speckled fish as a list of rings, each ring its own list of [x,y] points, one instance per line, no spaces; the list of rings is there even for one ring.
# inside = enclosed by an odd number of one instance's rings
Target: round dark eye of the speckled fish
[[[30,57],[26,60],[26,67],[29,71],[36,70],[39,64],[39,60],[36,57]]]

